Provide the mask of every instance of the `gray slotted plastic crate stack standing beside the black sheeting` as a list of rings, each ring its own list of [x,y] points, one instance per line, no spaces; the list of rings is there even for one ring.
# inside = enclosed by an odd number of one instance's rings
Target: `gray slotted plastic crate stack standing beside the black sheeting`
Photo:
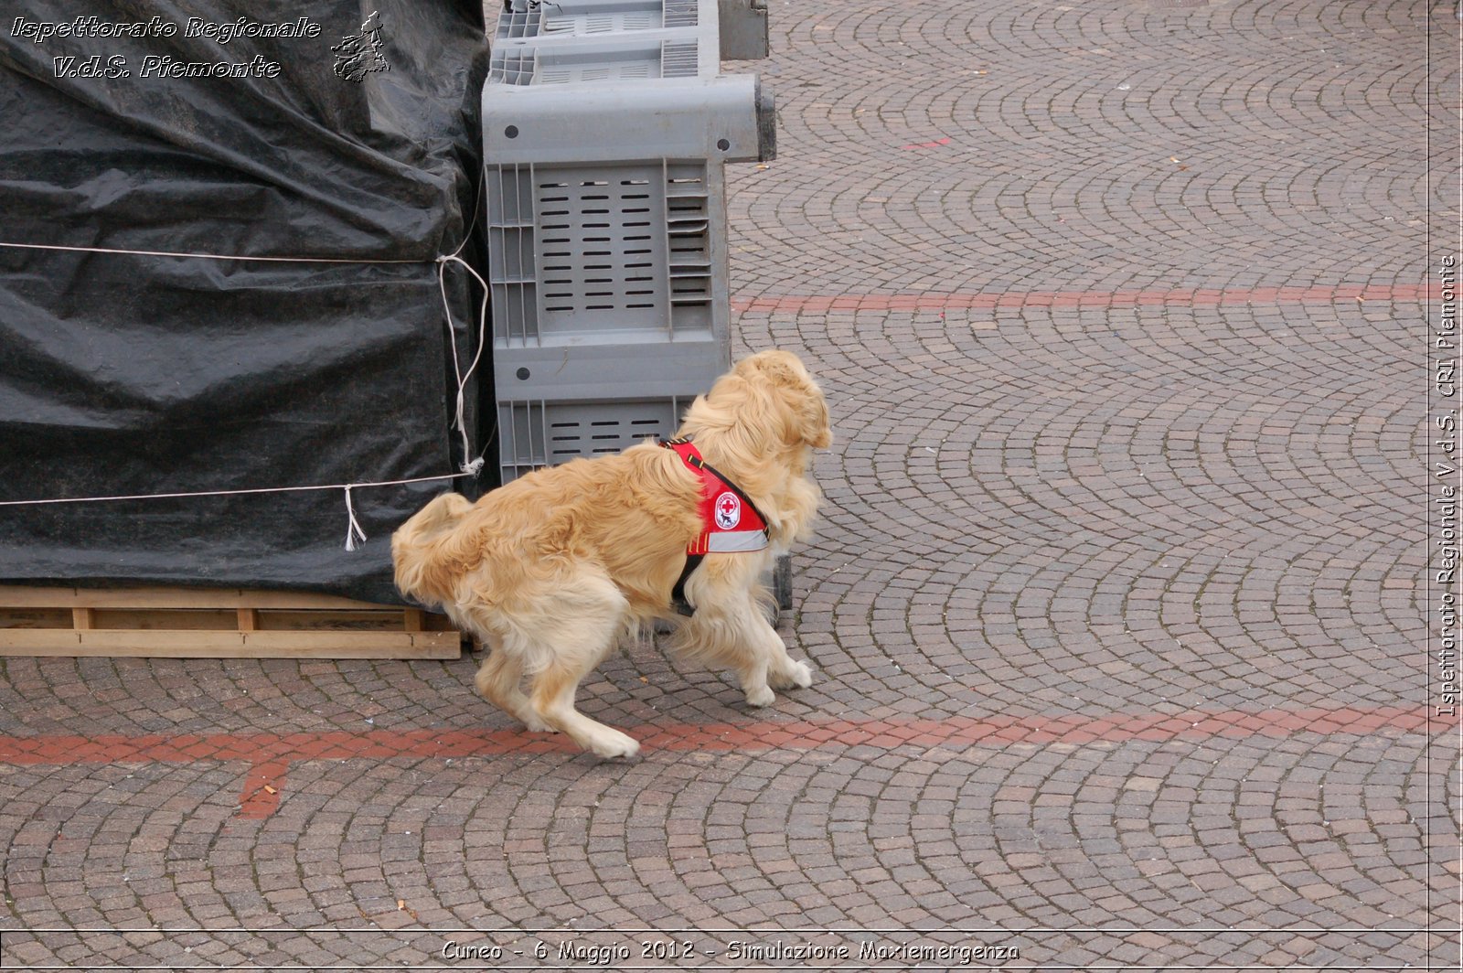
[[[547,417],[652,410],[669,435],[730,366],[723,164],[774,146],[756,78],[720,73],[724,19],[718,0],[499,16],[483,140],[505,483],[639,437],[552,440]]]

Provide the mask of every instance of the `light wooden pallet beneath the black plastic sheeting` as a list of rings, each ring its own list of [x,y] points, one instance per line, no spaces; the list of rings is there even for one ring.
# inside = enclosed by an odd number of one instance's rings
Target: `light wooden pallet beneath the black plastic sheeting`
[[[0,655],[458,658],[421,609],[291,591],[0,585]]]

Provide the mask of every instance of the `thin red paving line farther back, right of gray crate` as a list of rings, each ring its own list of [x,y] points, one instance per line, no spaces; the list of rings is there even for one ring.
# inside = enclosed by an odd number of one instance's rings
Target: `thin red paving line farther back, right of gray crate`
[[[1138,307],[1186,304],[1219,307],[1232,304],[1331,304],[1336,301],[1441,300],[1437,284],[1339,284],[1336,287],[1257,287],[1251,290],[1176,288],[1118,291],[977,291],[951,294],[803,294],[786,297],[742,297],[732,300],[736,312],[827,312],[827,310],[974,310],[1012,307]]]

